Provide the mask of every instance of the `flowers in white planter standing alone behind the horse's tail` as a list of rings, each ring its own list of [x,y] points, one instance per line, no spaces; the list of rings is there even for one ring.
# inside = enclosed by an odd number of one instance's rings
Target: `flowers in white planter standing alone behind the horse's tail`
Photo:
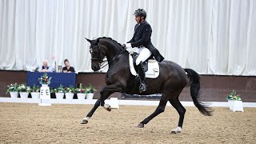
[[[240,97],[240,94],[237,94],[235,90],[232,90],[230,94],[226,96],[226,99],[228,100],[230,110],[234,110],[234,107],[237,107],[239,105],[239,110],[241,109],[242,106],[242,98]]]

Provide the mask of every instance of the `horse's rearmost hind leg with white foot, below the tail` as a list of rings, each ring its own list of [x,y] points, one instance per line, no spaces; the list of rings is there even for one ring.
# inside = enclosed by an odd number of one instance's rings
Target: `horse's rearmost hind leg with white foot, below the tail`
[[[184,120],[184,115],[186,113],[186,109],[182,106],[182,103],[178,100],[178,95],[180,93],[174,95],[175,97],[171,97],[169,102],[174,108],[178,111],[179,120],[178,120],[178,127],[174,130],[171,130],[171,133],[178,134],[182,131],[182,125]]]

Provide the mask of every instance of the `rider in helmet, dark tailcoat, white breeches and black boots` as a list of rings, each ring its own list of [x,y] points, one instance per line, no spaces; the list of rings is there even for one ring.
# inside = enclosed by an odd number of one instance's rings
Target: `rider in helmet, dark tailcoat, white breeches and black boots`
[[[158,62],[162,62],[164,59],[159,51],[153,46],[151,42],[152,29],[148,22],[146,22],[146,11],[143,9],[138,9],[134,11],[135,20],[137,24],[134,27],[133,38],[125,43],[126,48],[136,47],[138,58],[136,59],[136,66],[138,66],[138,77],[140,79],[139,91],[143,92],[147,90],[145,83],[145,72],[143,67],[143,62],[150,58],[151,55]]]

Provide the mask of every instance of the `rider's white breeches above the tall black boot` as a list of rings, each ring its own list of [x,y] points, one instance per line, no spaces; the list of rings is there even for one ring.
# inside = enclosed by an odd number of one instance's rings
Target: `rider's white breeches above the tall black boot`
[[[137,50],[135,50],[135,52],[138,53],[138,58],[136,59],[136,66],[138,66],[140,62],[145,62],[147,58],[150,58],[152,53],[146,47],[136,47],[136,49]]]

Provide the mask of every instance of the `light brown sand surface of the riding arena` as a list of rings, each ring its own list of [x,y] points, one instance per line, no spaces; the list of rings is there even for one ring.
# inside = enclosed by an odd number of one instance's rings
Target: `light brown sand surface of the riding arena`
[[[0,143],[255,143],[256,109],[230,112],[215,108],[206,117],[195,107],[186,107],[181,134],[170,134],[178,125],[172,106],[148,123],[135,126],[155,106],[120,106],[108,112],[96,110],[88,124],[80,125],[92,105],[0,103]]]

